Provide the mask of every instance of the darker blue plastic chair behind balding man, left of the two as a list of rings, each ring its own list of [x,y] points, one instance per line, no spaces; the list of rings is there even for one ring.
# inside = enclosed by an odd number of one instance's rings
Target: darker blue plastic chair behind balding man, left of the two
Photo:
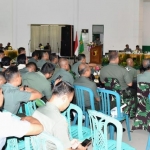
[[[88,127],[89,117],[85,107],[84,93],[87,92],[89,94],[90,104],[91,104],[90,109],[95,110],[93,91],[90,88],[86,88],[84,86],[79,86],[79,85],[74,85],[74,89],[75,89],[75,97],[77,100],[76,103],[82,109],[83,115],[85,116],[85,126]]]

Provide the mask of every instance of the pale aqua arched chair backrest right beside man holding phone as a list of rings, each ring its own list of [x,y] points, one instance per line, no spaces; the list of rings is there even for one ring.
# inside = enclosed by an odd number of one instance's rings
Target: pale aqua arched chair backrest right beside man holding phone
[[[73,123],[71,122],[71,111],[74,112],[75,117],[73,120]],[[80,107],[74,104],[70,104],[69,107],[62,113],[66,118],[68,122],[68,127],[69,127],[69,133],[70,133],[70,138],[72,139],[73,137],[76,137],[77,139],[83,139],[83,133],[82,133],[82,110]],[[72,136],[72,130],[71,130],[71,125],[77,124],[78,130],[74,135]]]

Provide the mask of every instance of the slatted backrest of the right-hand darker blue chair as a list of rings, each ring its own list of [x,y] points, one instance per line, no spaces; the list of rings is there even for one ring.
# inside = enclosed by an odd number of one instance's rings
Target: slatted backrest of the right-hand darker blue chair
[[[120,95],[117,92],[97,88],[97,92],[100,97],[101,102],[101,112],[110,116],[110,101],[111,98],[115,98],[116,107],[117,107],[117,118],[121,118],[121,110],[120,110]]]

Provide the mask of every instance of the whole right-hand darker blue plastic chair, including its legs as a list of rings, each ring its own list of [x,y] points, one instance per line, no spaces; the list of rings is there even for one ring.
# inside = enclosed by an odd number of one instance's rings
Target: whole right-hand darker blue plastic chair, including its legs
[[[126,120],[126,127],[128,131],[128,138],[131,140],[131,134],[130,134],[130,122],[129,122],[129,117],[128,114],[125,114],[121,112],[120,110],[120,95],[117,92],[106,90],[106,89],[97,89],[97,92],[100,97],[100,102],[101,102],[101,112],[110,116],[110,101],[111,97],[113,96],[116,100],[116,107],[117,107],[117,116],[115,116],[115,119],[118,121],[123,121]],[[114,138],[114,127],[110,126],[110,138]]]

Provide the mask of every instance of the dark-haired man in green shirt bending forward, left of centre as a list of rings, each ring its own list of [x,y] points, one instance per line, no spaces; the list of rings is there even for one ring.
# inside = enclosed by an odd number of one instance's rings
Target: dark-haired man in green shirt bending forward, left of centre
[[[55,68],[51,63],[45,63],[39,72],[28,72],[24,75],[22,79],[22,85],[28,85],[29,87],[36,89],[46,99],[49,100],[51,97],[51,84],[47,79],[49,79]]]

